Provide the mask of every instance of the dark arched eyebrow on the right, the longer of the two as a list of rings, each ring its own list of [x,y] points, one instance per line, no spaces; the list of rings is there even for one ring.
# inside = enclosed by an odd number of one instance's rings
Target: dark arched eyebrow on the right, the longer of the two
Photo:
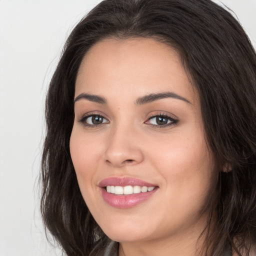
[[[136,101],[135,104],[137,105],[142,105],[146,103],[150,103],[154,100],[162,99],[162,98],[175,98],[175,99],[180,99],[183,100],[189,104],[192,104],[188,99],[174,93],[174,92],[162,92],[162,93],[151,93],[148,95],[145,95],[143,97],[139,97]]]

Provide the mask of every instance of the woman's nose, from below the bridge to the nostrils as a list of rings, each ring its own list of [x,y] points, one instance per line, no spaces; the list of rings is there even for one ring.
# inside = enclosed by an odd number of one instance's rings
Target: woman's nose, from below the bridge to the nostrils
[[[113,167],[133,165],[143,161],[138,134],[128,127],[116,127],[108,137],[105,162]]]

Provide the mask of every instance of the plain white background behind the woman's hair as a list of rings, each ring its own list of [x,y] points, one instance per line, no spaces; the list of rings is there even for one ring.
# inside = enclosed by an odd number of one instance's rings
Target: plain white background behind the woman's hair
[[[38,210],[45,92],[65,38],[99,1],[0,0],[0,256],[60,255]],[[222,2],[255,47],[256,0]]]

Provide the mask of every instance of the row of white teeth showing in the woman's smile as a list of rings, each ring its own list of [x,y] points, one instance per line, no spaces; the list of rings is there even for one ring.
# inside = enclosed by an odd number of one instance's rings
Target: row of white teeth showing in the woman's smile
[[[106,191],[112,194],[137,194],[152,191],[154,186],[106,186]]]

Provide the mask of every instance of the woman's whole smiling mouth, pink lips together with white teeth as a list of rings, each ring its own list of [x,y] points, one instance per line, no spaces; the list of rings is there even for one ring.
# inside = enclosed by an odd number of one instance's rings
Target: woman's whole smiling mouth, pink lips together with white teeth
[[[130,208],[149,199],[158,189],[156,184],[131,177],[108,177],[99,182],[102,197],[116,208]]]

